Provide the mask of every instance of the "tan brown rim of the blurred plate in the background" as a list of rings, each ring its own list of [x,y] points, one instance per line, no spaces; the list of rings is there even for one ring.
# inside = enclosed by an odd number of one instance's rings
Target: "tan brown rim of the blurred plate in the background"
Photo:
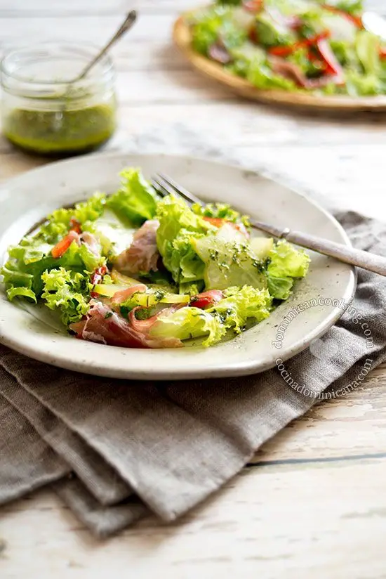
[[[186,13],[180,15],[173,24],[173,41],[183,55],[206,77],[227,86],[231,91],[249,100],[258,100],[261,103],[286,105],[293,108],[307,108],[309,110],[326,110],[335,112],[355,111],[386,111],[386,95],[379,96],[319,96],[313,93],[294,93],[293,91],[263,91],[250,82],[227,72],[222,65],[206,58],[192,48],[192,35],[185,20]]]

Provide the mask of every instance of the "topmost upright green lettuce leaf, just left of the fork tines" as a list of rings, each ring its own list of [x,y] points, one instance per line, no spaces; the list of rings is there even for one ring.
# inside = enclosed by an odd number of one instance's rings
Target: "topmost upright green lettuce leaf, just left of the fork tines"
[[[121,188],[107,197],[107,207],[124,223],[141,226],[156,214],[159,197],[140,169],[125,169],[121,177]]]

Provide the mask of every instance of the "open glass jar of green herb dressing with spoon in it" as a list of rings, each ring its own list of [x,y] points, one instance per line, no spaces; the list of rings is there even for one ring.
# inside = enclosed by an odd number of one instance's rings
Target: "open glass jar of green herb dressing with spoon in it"
[[[69,84],[95,56],[89,46],[44,43],[9,53],[1,62],[4,136],[38,155],[67,157],[106,143],[117,122],[112,60]]]

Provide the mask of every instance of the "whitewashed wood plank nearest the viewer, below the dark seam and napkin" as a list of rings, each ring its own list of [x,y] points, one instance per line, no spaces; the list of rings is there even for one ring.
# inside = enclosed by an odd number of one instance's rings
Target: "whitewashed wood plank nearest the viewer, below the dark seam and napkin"
[[[178,523],[148,519],[105,543],[44,493],[6,507],[1,577],[382,579],[385,484],[376,460],[249,469]]]

